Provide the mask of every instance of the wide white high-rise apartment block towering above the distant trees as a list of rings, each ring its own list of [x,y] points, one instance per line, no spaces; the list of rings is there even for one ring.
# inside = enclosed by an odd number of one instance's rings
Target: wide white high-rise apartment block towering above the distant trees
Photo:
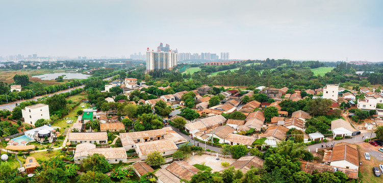
[[[177,66],[177,53],[173,51],[154,51],[146,49],[146,72],[172,69]]]

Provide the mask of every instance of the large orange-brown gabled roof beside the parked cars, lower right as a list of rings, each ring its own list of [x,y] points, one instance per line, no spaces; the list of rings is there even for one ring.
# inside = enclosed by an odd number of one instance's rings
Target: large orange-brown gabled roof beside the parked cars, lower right
[[[348,143],[335,145],[333,147],[333,154],[331,155],[331,162],[341,160],[346,160],[356,166],[359,166],[358,149]]]

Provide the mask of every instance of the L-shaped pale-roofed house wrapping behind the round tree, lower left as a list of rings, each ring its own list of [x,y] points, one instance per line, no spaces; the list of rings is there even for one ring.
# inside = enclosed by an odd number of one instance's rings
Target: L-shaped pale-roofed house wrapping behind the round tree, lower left
[[[76,146],[73,155],[74,163],[81,164],[84,159],[94,154],[103,155],[112,164],[119,162],[126,163],[127,159],[126,151],[123,147],[96,148],[96,145],[93,143],[82,143]]]

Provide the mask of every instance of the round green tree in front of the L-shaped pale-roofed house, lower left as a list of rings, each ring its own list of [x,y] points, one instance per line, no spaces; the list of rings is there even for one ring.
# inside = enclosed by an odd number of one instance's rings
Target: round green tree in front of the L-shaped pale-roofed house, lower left
[[[109,162],[103,155],[99,154],[88,155],[88,157],[83,160],[82,166],[85,171],[99,171],[101,173],[106,173],[110,169]]]

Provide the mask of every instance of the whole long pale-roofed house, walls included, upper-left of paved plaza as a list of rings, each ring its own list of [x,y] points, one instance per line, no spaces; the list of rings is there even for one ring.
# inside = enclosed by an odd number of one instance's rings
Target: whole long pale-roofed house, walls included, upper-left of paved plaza
[[[141,160],[145,160],[147,155],[153,151],[159,151],[162,156],[173,155],[177,151],[178,147],[172,140],[156,140],[148,141],[144,143],[135,143],[134,148]]]

